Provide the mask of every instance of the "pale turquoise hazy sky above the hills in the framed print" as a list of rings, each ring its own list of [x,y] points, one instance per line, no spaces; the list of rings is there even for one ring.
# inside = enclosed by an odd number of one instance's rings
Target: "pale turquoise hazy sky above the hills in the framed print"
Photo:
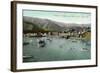
[[[23,16],[51,19],[65,23],[90,24],[91,14],[84,12],[55,12],[23,10]]]

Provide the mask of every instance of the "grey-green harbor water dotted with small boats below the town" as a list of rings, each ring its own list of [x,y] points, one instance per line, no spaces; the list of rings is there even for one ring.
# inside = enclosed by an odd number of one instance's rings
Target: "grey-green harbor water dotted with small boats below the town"
[[[59,37],[23,38],[23,62],[84,60],[90,58],[90,41]]]

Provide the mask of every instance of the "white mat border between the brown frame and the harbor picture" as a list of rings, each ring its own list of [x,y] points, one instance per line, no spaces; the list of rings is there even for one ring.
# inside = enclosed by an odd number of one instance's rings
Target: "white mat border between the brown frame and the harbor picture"
[[[67,6],[51,6],[51,5],[31,5],[17,4],[17,69],[37,69],[37,68],[52,68],[52,67],[68,67],[68,66],[85,66],[96,65],[96,9],[82,7],[67,7]],[[51,10],[51,11],[72,11],[72,12],[90,12],[91,13],[91,60],[73,60],[73,61],[55,61],[55,62],[22,62],[22,10]]]

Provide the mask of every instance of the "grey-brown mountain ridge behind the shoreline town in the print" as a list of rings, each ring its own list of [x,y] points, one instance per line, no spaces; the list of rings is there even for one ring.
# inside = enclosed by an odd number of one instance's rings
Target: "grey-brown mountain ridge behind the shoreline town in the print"
[[[90,27],[90,24],[63,23],[50,19],[23,17],[24,31],[66,31],[71,28]]]

